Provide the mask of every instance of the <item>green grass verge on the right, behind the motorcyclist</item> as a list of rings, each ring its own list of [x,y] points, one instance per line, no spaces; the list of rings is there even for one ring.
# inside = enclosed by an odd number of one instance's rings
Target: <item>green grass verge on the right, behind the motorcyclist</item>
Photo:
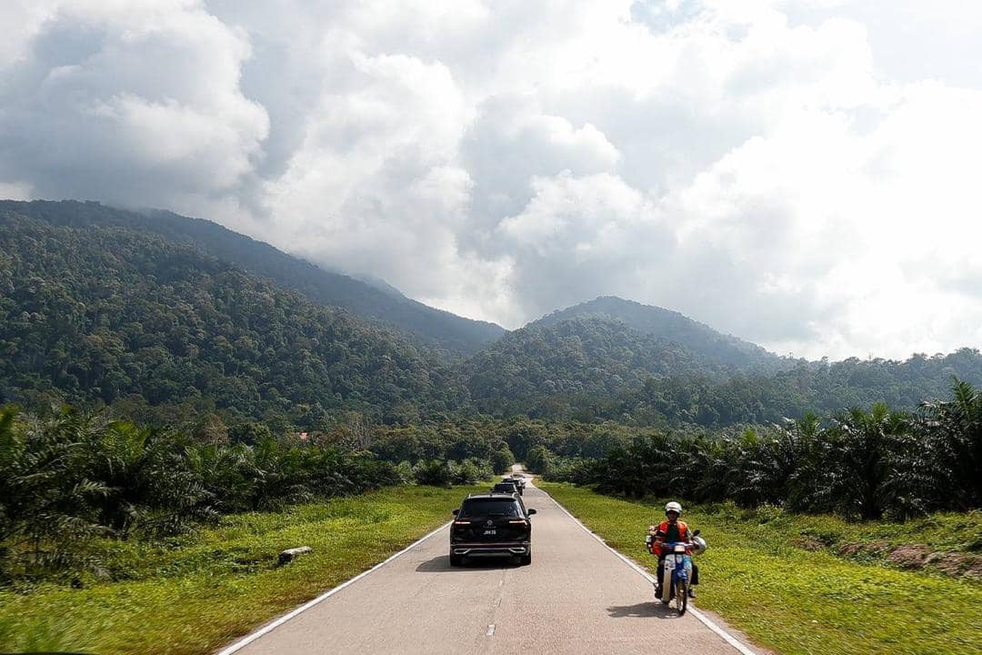
[[[537,486],[653,572],[656,561],[644,550],[644,534],[661,519],[664,500],[628,501],[562,483]],[[774,516],[767,519],[769,514]],[[697,561],[698,607],[718,612],[762,646],[787,655],[982,653],[982,582],[900,571],[833,552],[836,543],[863,540],[973,550],[979,513],[853,524],[768,508],[742,513],[724,504],[686,507],[683,519],[709,542]],[[809,530],[824,535],[829,547],[795,546]]]

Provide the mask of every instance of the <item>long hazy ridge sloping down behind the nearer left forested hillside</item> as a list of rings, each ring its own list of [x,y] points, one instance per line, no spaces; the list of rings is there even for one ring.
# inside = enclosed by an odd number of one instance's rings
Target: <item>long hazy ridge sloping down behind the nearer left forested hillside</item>
[[[29,216],[57,227],[123,227],[153,233],[168,241],[190,243],[207,254],[267,277],[279,287],[310,300],[345,307],[362,317],[407,331],[425,345],[471,354],[502,334],[494,323],[475,321],[409,300],[383,283],[368,284],[332,273],[273,246],[227,230],[217,223],[169,211],[133,212],[98,202],[0,200],[0,210]]]

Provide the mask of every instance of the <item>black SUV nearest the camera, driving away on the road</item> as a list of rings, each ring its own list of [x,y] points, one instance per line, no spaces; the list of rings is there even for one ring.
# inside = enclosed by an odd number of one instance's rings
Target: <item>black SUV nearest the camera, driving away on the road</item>
[[[511,494],[471,494],[454,510],[450,527],[450,565],[467,557],[515,557],[532,563],[532,521],[535,510]]]

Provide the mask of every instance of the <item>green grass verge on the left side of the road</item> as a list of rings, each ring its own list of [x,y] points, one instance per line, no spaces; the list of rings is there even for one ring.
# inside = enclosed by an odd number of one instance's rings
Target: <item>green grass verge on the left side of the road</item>
[[[82,588],[0,590],[0,652],[210,652],[402,550],[485,489],[393,487],[233,515],[165,542],[95,542],[97,574],[77,575]],[[300,545],[313,552],[276,566]]]

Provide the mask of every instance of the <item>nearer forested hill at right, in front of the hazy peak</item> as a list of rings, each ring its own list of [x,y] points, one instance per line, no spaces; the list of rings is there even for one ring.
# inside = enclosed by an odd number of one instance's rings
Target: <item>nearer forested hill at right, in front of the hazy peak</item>
[[[601,300],[608,306],[634,304]],[[639,305],[636,311],[643,315],[648,309],[657,307]],[[556,318],[576,313],[552,314],[469,358],[464,380],[477,408],[501,416],[726,426],[780,422],[806,411],[835,415],[875,403],[915,409],[921,401],[946,397],[953,377],[982,383],[982,355],[971,349],[831,364],[747,349],[749,356],[740,359],[729,346],[732,338],[703,333],[700,339],[722,345],[700,350],[628,327],[610,313]],[[699,342],[691,335],[689,341]],[[755,356],[759,364],[751,363]],[[740,366],[766,371],[774,364],[771,357],[781,370],[745,374]]]

